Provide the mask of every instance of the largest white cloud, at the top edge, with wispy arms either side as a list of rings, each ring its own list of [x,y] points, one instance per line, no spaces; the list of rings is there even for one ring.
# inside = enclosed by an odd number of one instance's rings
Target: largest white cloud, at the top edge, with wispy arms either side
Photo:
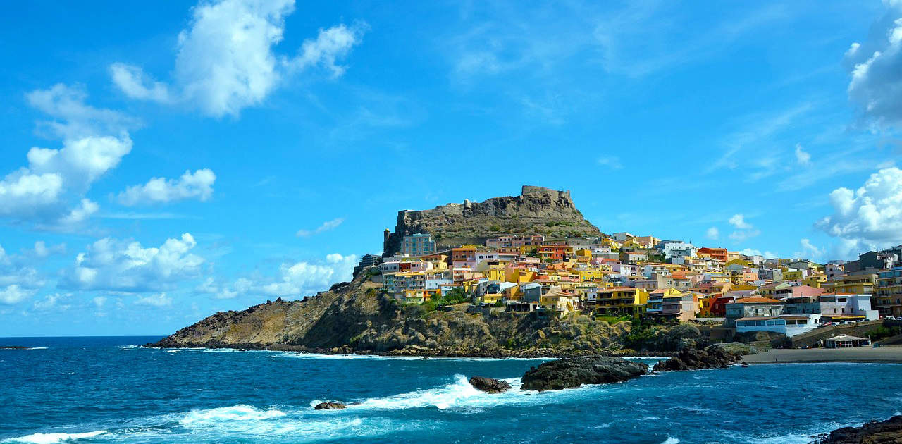
[[[236,116],[299,70],[320,67],[333,78],[344,74],[338,60],[361,42],[365,23],[320,29],[297,56],[287,57],[272,50],[292,12],[294,0],[203,2],[192,9],[189,28],[179,33],[171,85],[124,63],[111,65],[111,77],[128,97],[191,104],[209,116]]]

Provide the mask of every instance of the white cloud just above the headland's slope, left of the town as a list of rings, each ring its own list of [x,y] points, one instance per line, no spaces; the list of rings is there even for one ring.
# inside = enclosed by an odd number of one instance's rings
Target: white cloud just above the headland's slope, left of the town
[[[337,253],[327,254],[325,264],[282,264],[275,282],[262,284],[259,291],[272,296],[299,296],[327,290],[333,283],[349,281],[356,264],[355,254]]]

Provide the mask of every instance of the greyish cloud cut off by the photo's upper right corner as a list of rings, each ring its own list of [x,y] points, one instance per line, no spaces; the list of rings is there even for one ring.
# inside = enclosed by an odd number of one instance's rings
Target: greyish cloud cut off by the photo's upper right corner
[[[888,13],[868,41],[854,42],[845,59],[851,67],[849,98],[879,125],[902,123],[902,2]]]

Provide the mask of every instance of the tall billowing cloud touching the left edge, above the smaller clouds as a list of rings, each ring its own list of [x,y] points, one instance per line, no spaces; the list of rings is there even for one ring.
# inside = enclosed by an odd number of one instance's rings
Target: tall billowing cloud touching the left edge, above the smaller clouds
[[[39,122],[60,148],[32,147],[28,163],[0,180],[0,217],[36,222],[41,227],[70,227],[97,212],[83,199],[91,185],[115,169],[132,151],[127,129],[133,119],[87,106],[80,88],[56,85],[32,91],[28,102],[51,117]]]

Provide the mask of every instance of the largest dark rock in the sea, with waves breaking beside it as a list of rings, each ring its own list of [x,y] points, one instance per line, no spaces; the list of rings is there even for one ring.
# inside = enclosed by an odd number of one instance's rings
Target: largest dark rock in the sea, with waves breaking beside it
[[[566,357],[530,368],[523,390],[560,390],[582,384],[620,383],[645,375],[649,366],[613,356]]]

